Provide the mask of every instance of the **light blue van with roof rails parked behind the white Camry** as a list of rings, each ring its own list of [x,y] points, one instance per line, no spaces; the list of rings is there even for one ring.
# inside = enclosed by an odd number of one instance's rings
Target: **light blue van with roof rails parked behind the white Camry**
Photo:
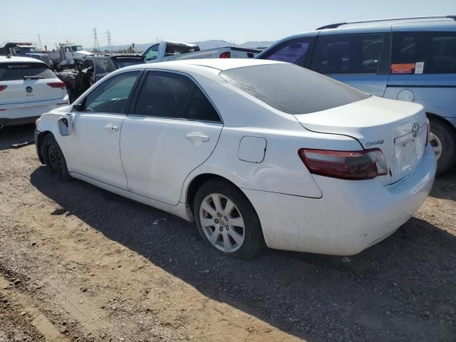
[[[420,103],[430,120],[437,174],[455,164],[456,16],[332,24],[281,39],[256,58],[295,63],[372,95]]]

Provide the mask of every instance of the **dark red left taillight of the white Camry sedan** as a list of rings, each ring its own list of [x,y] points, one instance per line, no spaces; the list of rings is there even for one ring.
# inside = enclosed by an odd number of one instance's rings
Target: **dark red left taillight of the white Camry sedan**
[[[378,148],[362,151],[330,151],[301,148],[299,157],[311,173],[343,180],[370,180],[388,174]]]

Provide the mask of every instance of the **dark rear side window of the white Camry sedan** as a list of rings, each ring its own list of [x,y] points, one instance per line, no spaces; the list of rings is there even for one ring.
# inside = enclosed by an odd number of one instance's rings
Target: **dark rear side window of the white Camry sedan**
[[[135,115],[220,121],[214,107],[187,76],[149,71],[136,101]]]

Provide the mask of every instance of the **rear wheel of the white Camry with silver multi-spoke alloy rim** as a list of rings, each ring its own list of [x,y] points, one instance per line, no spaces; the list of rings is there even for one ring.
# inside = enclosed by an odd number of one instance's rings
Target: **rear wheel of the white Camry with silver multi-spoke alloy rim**
[[[195,195],[194,213],[202,239],[219,253],[251,259],[265,247],[257,212],[229,182],[204,183]]]

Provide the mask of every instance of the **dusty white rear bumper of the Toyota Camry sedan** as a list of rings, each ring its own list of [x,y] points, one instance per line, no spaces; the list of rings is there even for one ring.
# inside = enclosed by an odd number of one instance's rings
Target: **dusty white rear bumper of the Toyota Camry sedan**
[[[427,146],[418,168],[385,187],[377,180],[315,176],[320,199],[245,190],[257,210],[268,247],[353,255],[393,234],[423,204],[435,177]]]

